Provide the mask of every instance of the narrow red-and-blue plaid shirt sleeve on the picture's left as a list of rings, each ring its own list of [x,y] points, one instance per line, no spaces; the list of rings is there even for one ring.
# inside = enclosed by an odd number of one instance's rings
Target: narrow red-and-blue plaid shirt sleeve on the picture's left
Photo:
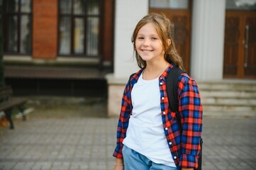
[[[116,149],[113,152],[113,157],[123,158],[123,139],[126,137],[126,130],[128,128],[128,121],[131,112],[130,104],[130,85],[126,84],[123,91],[123,98],[121,104],[121,113],[119,115],[117,132],[116,132]]]

